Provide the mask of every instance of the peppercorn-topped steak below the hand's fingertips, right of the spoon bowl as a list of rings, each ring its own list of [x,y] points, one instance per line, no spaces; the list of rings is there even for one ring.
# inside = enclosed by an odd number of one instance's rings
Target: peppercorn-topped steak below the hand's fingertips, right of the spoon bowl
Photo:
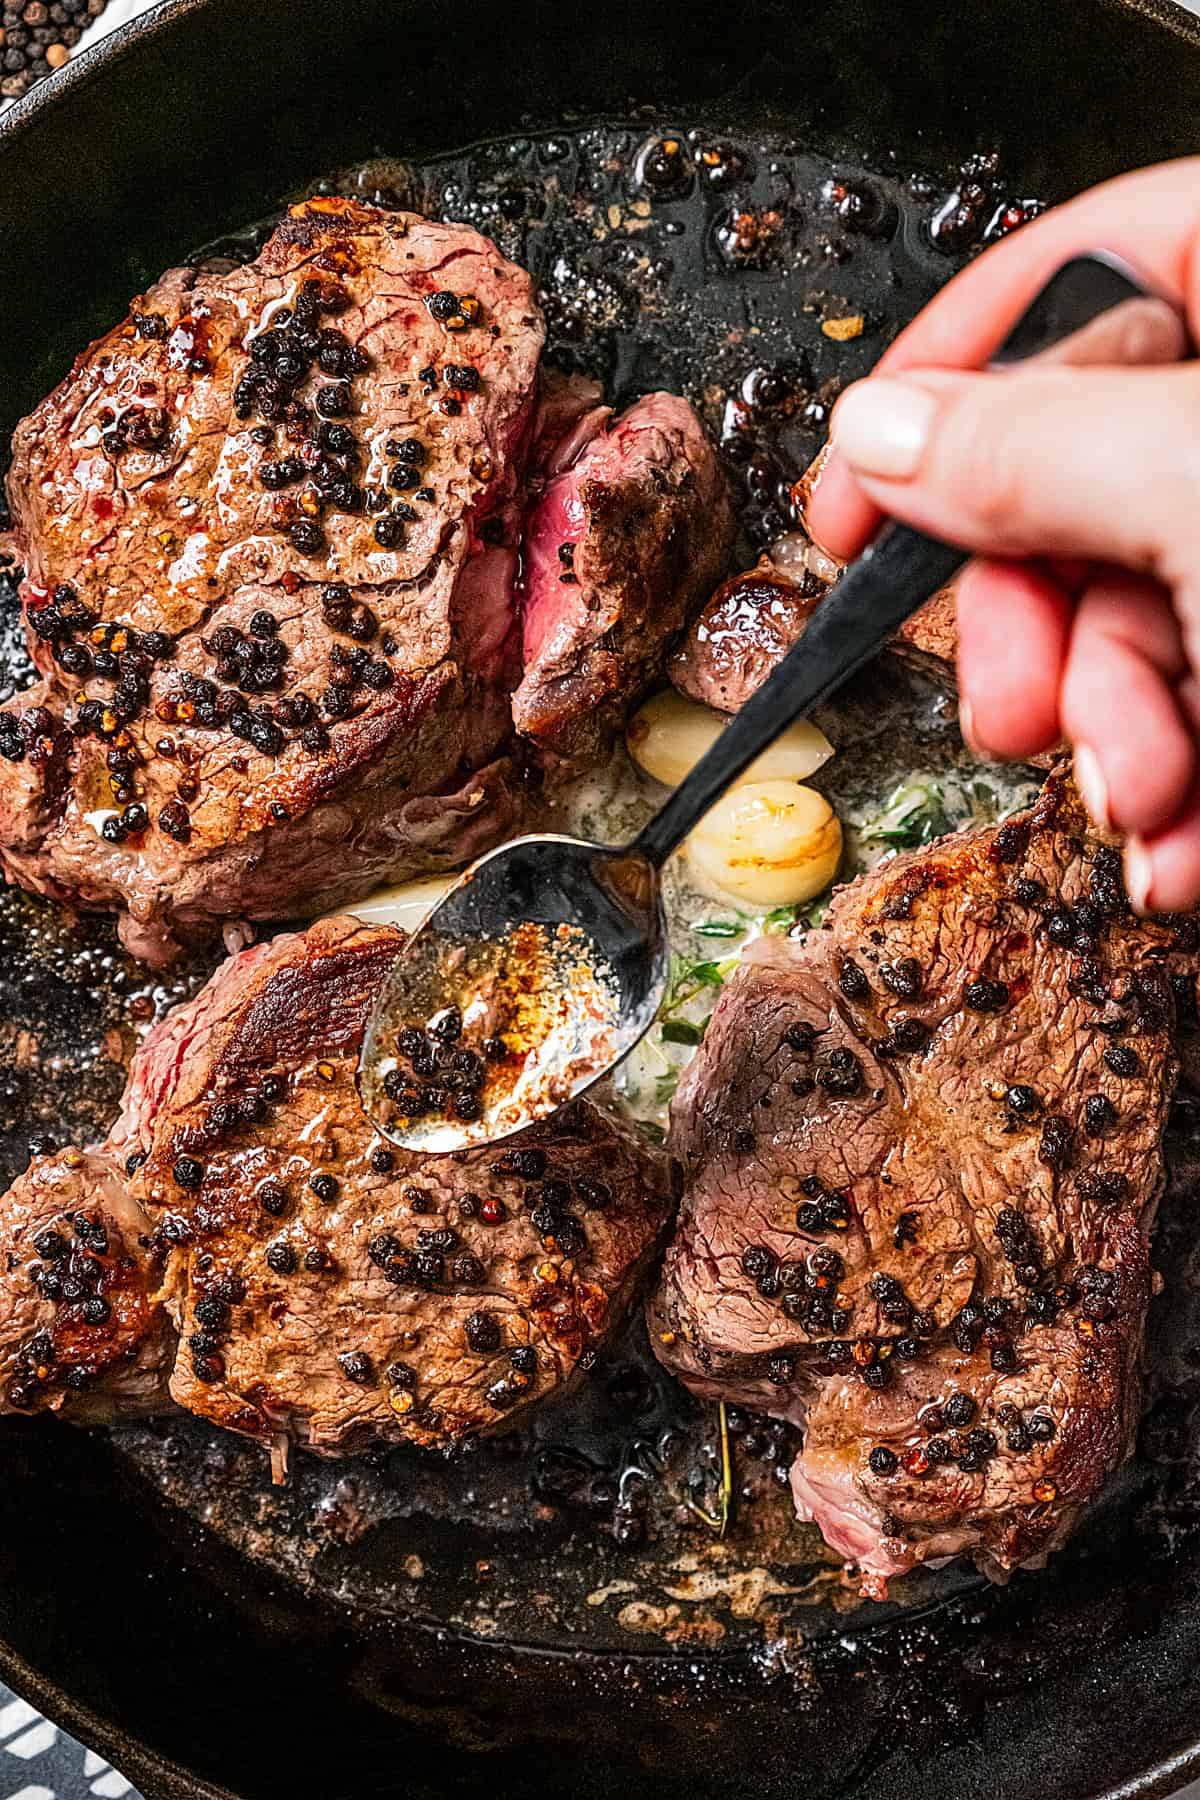
[[[1195,970],[1195,920],[1137,920],[1051,776],[725,988],[673,1105],[651,1341],[804,1426],[797,1505],[869,1593],[1040,1561],[1128,1456]]]

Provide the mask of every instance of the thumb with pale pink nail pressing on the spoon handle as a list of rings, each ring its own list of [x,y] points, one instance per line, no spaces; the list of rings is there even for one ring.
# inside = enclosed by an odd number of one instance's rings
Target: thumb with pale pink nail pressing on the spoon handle
[[[1196,364],[871,376],[831,436],[876,506],[964,549],[1195,580]]]

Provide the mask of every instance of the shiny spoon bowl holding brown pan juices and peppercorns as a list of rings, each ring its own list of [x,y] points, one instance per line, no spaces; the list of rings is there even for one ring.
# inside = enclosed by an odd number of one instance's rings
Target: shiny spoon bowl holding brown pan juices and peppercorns
[[[502,1141],[633,1049],[669,963],[658,871],[637,851],[552,835],[504,844],[466,869],[387,976],[358,1062],[362,1103],[408,1150]]]

